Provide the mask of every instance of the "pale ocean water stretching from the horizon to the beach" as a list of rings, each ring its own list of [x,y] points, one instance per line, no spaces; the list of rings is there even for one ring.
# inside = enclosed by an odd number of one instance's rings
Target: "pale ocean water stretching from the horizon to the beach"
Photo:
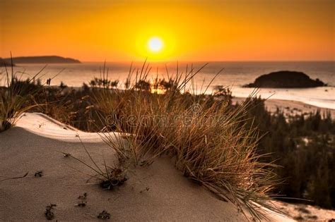
[[[143,63],[133,63],[133,68],[139,68]],[[191,67],[198,70],[203,66],[205,62],[195,63],[150,63],[151,73],[148,79],[155,78],[167,78],[167,71],[169,75],[176,73],[177,67],[179,73],[185,73],[186,68],[190,70]],[[131,63],[113,63],[107,62],[105,67],[108,68],[108,78],[110,80],[119,80],[124,82],[129,73]],[[166,68],[165,68],[166,65]],[[14,68],[14,72],[17,75],[21,75],[24,72],[22,78],[28,78],[33,76],[45,65],[43,64],[18,64]],[[41,79],[47,80],[52,79],[51,85],[59,85],[60,82],[64,82],[69,87],[81,87],[83,82],[90,82],[94,77],[100,77],[100,70],[102,70],[104,63],[98,62],[84,62],[84,63],[72,63],[72,64],[49,64],[42,71]],[[212,86],[223,85],[230,87],[235,97],[247,97],[253,89],[244,88],[242,85],[253,82],[259,75],[271,73],[278,70],[295,70],[306,73],[312,79],[319,78],[323,82],[328,84],[327,87],[316,87],[307,89],[261,89],[258,93],[262,98],[269,99],[286,99],[293,101],[301,101],[305,104],[311,104],[323,108],[335,109],[335,61],[292,61],[292,62],[210,62],[205,66],[199,73],[194,77],[192,82],[192,89],[196,92],[203,92],[213,77],[218,73],[219,70],[222,72],[213,80]],[[0,78],[4,78],[4,68],[0,68]],[[191,87],[191,86],[190,86]],[[213,87],[208,89],[211,92]]]

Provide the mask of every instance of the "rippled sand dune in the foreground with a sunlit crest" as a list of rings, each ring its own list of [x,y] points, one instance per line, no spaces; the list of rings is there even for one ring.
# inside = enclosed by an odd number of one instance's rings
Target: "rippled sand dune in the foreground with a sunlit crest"
[[[94,173],[61,153],[90,163],[76,134],[99,164],[103,159],[108,164],[116,161],[99,135],[41,113],[25,113],[16,127],[0,134],[0,175],[29,172],[25,178],[0,183],[0,221],[45,220],[48,204],[57,204],[54,219],[61,221],[92,221],[103,210],[112,221],[247,221],[233,204],[184,178],[167,157],[129,171],[129,180],[117,190],[102,190],[94,180],[86,183]],[[36,171],[42,171],[42,177],[35,177]],[[75,206],[85,192],[87,205]],[[268,216],[271,221],[290,221],[270,211]]]

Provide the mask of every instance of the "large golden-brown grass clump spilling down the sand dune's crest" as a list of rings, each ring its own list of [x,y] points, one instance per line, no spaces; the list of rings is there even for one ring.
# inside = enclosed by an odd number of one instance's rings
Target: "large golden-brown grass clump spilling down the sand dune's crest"
[[[104,132],[102,138],[119,159],[134,166],[151,164],[161,154],[175,157],[176,168],[187,178],[261,219],[260,205],[274,209],[266,204],[274,173],[271,164],[257,161],[257,128],[244,123],[249,104],[232,109],[218,99],[220,94],[189,93],[187,85],[200,70],[169,77],[169,87],[158,94],[143,84],[150,72],[144,63],[141,70],[129,71],[126,90],[95,89],[107,127],[113,125],[122,137],[116,140],[114,132]]]

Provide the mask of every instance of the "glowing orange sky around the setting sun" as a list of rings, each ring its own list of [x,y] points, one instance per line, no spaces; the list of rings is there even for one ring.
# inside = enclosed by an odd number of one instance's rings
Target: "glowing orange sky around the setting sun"
[[[0,0],[0,56],[334,60],[335,1]],[[148,39],[164,47],[153,53]]]

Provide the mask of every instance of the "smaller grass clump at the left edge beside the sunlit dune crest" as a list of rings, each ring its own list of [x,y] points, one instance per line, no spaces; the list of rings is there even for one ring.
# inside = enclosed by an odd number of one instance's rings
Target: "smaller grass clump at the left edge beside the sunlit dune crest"
[[[0,132],[11,128],[22,113],[34,107],[31,103],[32,97],[40,90],[41,86],[40,84],[35,86],[34,83],[35,78],[40,75],[42,70],[33,78],[24,81],[16,77],[16,73],[13,71],[13,62],[11,73],[6,66],[5,70],[5,77],[0,79]]]

